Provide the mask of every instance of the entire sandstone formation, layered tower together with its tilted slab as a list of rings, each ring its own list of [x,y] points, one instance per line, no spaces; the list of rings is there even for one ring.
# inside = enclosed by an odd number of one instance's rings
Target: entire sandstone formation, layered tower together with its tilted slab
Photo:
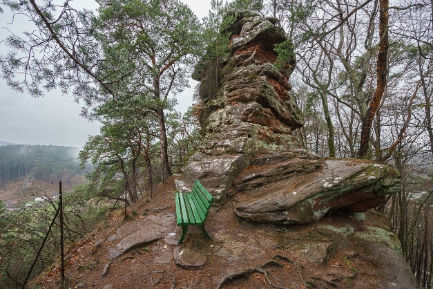
[[[230,32],[230,56],[198,65],[200,124],[205,133],[177,189],[198,179],[235,214],[251,221],[309,223],[327,212],[364,212],[399,188],[391,167],[363,160],[320,159],[296,149],[291,131],[302,126],[288,91],[295,59],[273,65],[274,44],[287,40],[276,19],[243,12]]]

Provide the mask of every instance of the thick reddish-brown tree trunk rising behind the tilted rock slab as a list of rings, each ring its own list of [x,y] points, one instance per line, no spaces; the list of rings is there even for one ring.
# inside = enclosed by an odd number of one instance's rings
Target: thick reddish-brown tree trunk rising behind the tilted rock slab
[[[377,56],[377,86],[372,101],[369,104],[365,118],[363,118],[363,127],[360,135],[360,146],[358,151],[359,158],[364,158],[369,149],[370,133],[374,115],[381,104],[383,93],[387,86],[387,53],[388,53],[388,0],[379,1],[379,52]]]

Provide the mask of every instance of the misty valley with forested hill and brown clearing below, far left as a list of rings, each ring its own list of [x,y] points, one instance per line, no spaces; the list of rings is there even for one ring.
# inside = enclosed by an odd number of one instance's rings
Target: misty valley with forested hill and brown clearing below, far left
[[[79,149],[53,145],[15,145],[0,141],[0,200],[6,209],[37,203],[32,188],[48,197],[58,194],[59,180],[64,192],[86,182],[92,167],[80,169]]]

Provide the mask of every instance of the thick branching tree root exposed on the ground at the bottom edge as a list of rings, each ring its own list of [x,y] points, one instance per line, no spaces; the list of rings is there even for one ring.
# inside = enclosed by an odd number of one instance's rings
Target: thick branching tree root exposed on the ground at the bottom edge
[[[224,284],[227,283],[228,281],[230,281],[231,279],[235,279],[235,278],[238,278],[241,276],[247,276],[248,274],[251,274],[251,273],[264,274],[264,277],[267,279],[269,285],[272,286],[273,288],[287,289],[286,287],[278,286],[278,285],[272,283],[271,278],[273,280],[278,281],[278,283],[280,283],[280,284],[284,284],[284,282],[282,282],[280,279],[273,276],[273,274],[271,272],[269,272],[269,270],[264,269],[267,266],[271,266],[271,265],[274,265],[274,266],[279,267],[279,268],[284,267],[284,265],[282,265],[281,263],[278,263],[277,260],[284,260],[284,261],[287,261],[289,263],[296,265],[298,267],[300,279],[302,280],[302,283],[304,283],[305,286],[308,286],[309,283],[305,282],[304,279],[302,278],[302,269],[301,269],[302,267],[298,262],[291,261],[289,258],[281,256],[281,255],[275,255],[274,257],[272,257],[271,260],[268,260],[268,261],[262,263],[261,265],[258,265],[258,266],[253,267],[253,268],[249,268],[247,270],[242,270],[239,272],[232,272],[232,273],[225,275],[224,277],[222,277],[222,279],[220,279],[220,282],[218,283],[217,289],[221,289],[224,286]]]

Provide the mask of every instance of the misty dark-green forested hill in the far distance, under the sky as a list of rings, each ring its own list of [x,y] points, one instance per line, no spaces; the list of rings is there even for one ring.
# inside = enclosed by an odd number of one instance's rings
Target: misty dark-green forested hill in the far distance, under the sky
[[[32,174],[45,181],[50,176],[85,174],[79,169],[77,160],[79,149],[53,145],[6,145],[0,146],[0,183],[19,180]]]

